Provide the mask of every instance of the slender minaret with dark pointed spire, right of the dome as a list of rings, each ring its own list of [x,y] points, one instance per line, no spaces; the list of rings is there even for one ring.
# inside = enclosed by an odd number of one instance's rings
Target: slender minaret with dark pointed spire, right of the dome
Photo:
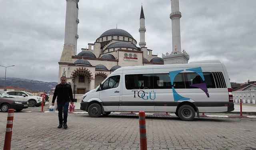
[[[142,47],[146,46],[146,42],[145,42],[145,32],[146,32],[145,17],[144,17],[144,12],[143,12],[142,6],[141,6],[141,11],[140,11],[140,28],[139,28],[139,32],[140,32],[139,46],[140,46],[140,48],[142,48]]]

